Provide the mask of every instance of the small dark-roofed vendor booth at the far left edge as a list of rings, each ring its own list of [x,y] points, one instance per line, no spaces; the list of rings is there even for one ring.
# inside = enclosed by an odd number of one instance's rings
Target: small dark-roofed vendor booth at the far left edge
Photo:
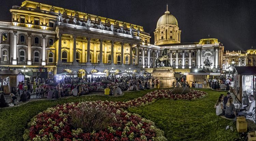
[[[5,94],[16,90],[19,82],[24,81],[24,75],[19,70],[3,70],[0,72],[0,85]]]

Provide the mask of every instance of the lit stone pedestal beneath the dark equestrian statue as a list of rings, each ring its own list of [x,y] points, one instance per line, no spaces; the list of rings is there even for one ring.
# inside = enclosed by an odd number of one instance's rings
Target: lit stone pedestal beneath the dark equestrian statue
[[[170,88],[175,82],[174,71],[172,67],[154,68],[152,72],[152,79],[159,80],[159,88]]]

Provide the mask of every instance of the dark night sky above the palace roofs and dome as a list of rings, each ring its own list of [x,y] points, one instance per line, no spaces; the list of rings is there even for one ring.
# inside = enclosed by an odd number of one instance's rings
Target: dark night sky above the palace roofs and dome
[[[152,36],[158,18],[166,11],[179,23],[181,42],[217,38],[225,50],[256,49],[255,0],[34,0],[138,24]],[[0,20],[11,20],[9,9],[23,0],[1,1]],[[85,11],[86,7],[86,11]]]

